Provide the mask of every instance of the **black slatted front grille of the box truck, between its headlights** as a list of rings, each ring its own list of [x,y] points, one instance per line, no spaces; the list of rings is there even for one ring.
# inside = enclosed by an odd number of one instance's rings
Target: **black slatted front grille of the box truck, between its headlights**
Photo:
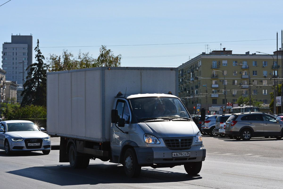
[[[169,149],[190,148],[193,137],[164,138],[163,141]]]

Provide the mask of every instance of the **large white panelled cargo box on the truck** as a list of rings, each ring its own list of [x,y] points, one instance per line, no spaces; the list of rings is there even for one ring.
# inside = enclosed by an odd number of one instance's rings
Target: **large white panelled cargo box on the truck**
[[[175,79],[171,79],[175,78]],[[95,67],[47,73],[47,133],[110,141],[114,97],[128,94],[178,95],[178,69]]]

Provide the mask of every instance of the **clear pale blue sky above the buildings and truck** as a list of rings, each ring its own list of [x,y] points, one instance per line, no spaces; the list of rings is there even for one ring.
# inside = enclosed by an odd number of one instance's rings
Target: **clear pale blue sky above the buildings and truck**
[[[46,58],[63,49],[96,58],[106,45],[122,55],[121,66],[178,67],[220,43],[235,54],[272,54],[276,32],[281,47],[282,7],[272,0],[11,0],[0,6],[0,43],[32,34]]]

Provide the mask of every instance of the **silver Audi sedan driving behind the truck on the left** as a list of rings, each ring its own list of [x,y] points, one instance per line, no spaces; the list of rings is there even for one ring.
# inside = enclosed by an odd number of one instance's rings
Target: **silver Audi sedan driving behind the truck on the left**
[[[0,149],[7,155],[15,151],[42,151],[49,154],[50,137],[33,122],[9,120],[0,122]]]

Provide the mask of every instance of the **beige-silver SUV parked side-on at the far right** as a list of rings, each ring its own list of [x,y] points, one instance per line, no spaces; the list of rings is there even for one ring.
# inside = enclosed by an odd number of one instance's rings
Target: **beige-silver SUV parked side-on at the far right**
[[[235,139],[250,140],[256,136],[282,138],[283,121],[263,112],[232,114],[226,121],[225,134]]]

